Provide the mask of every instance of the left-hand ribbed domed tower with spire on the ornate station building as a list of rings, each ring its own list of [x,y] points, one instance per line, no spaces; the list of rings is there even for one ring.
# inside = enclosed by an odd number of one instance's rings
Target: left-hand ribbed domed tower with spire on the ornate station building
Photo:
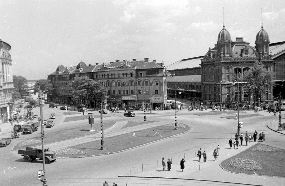
[[[217,39],[217,56],[230,56],[231,54],[231,36],[230,32],[225,29],[225,23],[223,29],[218,34]]]

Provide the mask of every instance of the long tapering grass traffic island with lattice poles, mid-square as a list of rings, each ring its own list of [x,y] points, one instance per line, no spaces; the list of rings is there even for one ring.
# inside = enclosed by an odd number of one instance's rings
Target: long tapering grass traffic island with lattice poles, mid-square
[[[59,149],[55,152],[58,153],[58,157],[80,157],[114,153],[187,132],[189,129],[190,127],[187,125],[178,124],[177,130],[174,130],[174,124],[167,124],[104,138],[104,150],[101,150],[101,141],[96,140]],[[135,137],[133,134],[135,134]]]

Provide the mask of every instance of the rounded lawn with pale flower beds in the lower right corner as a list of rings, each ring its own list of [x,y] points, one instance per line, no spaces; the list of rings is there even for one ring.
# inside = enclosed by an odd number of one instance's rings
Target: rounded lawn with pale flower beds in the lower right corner
[[[226,159],[221,167],[230,172],[285,177],[285,150],[257,143]]]

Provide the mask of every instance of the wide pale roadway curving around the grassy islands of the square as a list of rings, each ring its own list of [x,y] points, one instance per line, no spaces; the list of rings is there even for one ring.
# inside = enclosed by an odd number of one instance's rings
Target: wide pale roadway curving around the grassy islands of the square
[[[64,129],[66,127],[78,126],[81,121],[73,121],[68,123],[62,123],[64,120],[63,110],[48,108],[48,105],[44,106],[44,117],[54,112],[56,114],[56,126],[53,128],[44,129],[46,132],[56,132],[57,130]],[[202,111],[192,111],[202,112]],[[103,185],[103,182],[107,180],[109,185],[112,185],[114,181],[118,185],[223,185],[221,183],[211,183],[207,181],[187,181],[187,180],[174,180],[174,179],[154,179],[154,178],[121,178],[118,175],[131,175],[141,174],[142,166],[144,171],[156,170],[157,161],[159,161],[159,167],[161,167],[161,158],[172,158],[174,165],[177,165],[181,158],[193,159],[193,156],[197,153],[199,148],[206,149],[207,152],[212,152],[214,148],[221,144],[221,149],[228,148],[226,139],[234,137],[236,133],[237,121],[234,119],[221,118],[221,115],[192,115],[192,112],[188,112],[186,109],[178,112],[178,123],[187,124],[191,127],[189,132],[181,135],[170,137],[161,141],[150,143],[145,146],[126,150],[124,152],[95,156],[79,159],[57,159],[54,163],[46,164],[46,178],[48,185]],[[35,114],[39,114],[34,111]],[[253,113],[253,111],[247,111],[245,114]],[[265,144],[276,146],[278,148],[285,149],[284,135],[278,135],[275,132],[265,127],[265,123],[270,121],[273,115],[267,115],[262,113],[262,116],[244,118],[243,128],[241,132],[245,134],[245,131],[249,131],[249,134],[253,134],[254,130],[258,132],[266,133]],[[259,114],[260,114],[259,113]],[[254,114],[254,113],[253,113]],[[119,120],[121,119],[134,119],[143,121],[143,114],[137,114],[135,118],[122,118],[122,113],[108,113],[112,117],[106,118],[107,120]],[[232,115],[235,115],[233,111]],[[174,112],[151,114],[147,116],[148,120],[159,120],[161,123],[174,123]],[[151,127],[151,126],[150,126]],[[174,130],[175,133],[175,130]],[[39,133],[33,133],[32,135],[25,135],[32,137],[33,135],[39,135]],[[22,135],[21,135],[22,136]],[[27,136],[27,137],[26,137]],[[19,139],[19,142],[21,140]],[[100,141],[98,141],[100,143]],[[50,147],[52,149],[52,147]],[[42,169],[41,161],[24,162],[22,156],[17,152],[11,152],[12,146],[1,148],[1,163],[0,163],[0,183],[1,185],[42,185],[37,180],[37,172]],[[221,169],[217,164],[217,170]],[[187,167],[185,171],[189,171],[189,178],[191,178],[191,171],[197,170],[193,167]],[[173,170],[175,171],[175,170]],[[214,174],[214,173],[213,173]],[[212,175],[214,176],[214,175]],[[238,178],[240,182],[246,182],[245,176],[242,174],[232,174],[233,178]],[[171,177],[171,176],[170,176]],[[217,177],[219,180],[219,176]],[[220,177],[221,181],[225,178]],[[271,182],[270,182],[271,183]],[[280,182],[280,179],[276,179],[276,182],[272,185],[284,185],[285,181]],[[227,184],[230,185],[230,184]],[[233,184],[235,185],[235,184]],[[261,184],[262,185],[262,184]],[[266,185],[271,185],[267,184]]]

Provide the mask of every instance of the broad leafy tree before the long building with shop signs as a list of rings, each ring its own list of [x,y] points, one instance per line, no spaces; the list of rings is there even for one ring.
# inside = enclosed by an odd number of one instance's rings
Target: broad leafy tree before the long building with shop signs
[[[94,81],[87,76],[76,77],[69,85],[72,88],[72,93],[80,95],[84,102],[87,97],[92,97],[93,100],[96,100],[96,96],[105,95],[107,90],[101,81]],[[96,107],[96,101],[94,107]]]

